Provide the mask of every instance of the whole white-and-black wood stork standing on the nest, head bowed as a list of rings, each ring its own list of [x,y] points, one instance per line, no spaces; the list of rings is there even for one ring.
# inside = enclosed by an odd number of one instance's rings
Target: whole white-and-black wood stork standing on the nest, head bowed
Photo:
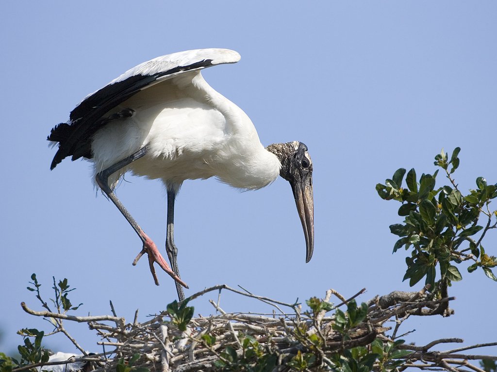
[[[241,189],[258,189],[278,175],[289,181],[306,240],[306,262],[314,249],[312,161],[301,142],[264,148],[248,116],[212,89],[200,70],[235,63],[240,55],[227,49],[173,53],[143,62],[96,92],[56,125],[48,140],[59,148],[54,169],[65,157],[91,159],[98,187],[114,202],[143,242],[133,264],[148,254],[155,283],[154,262],[175,281],[184,299],[177,248],[174,245],[174,199],[185,180],[217,177]],[[130,171],[160,179],[167,189],[166,252],[168,266],[154,242],[143,232],[114,194]]]

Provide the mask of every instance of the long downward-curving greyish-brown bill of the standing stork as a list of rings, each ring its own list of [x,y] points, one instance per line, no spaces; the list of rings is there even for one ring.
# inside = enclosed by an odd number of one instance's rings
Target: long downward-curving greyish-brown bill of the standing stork
[[[297,204],[300,222],[306,238],[306,262],[312,258],[314,251],[314,196],[312,191],[312,176],[303,180],[291,182],[293,197]]]

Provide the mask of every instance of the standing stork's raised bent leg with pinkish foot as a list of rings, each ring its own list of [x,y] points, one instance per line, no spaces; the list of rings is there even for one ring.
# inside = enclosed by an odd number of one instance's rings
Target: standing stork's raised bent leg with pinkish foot
[[[167,274],[169,274],[175,281],[176,283],[179,283],[180,285],[184,286],[185,288],[188,288],[186,283],[184,283],[169,267],[167,264],[166,260],[164,257],[161,255],[159,250],[157,249],[156,245],[150,239],[147,234],[143,232],[141,227],[137,224],[137,222],[134,220],[134,218],[131,216],[131,214],[126,210],[124,205],[121,203],[121,201],[117,198],[117,196],[114,194],[112,189],[109,186],[109,177],[112,175],[114,172],[118,171],[121,168],[126,167],[127,165],[131,164],[135,160],[140,159],[142,156],[144,156],[147,153],[147,147],[142,147],[140,150],[135,152],[134,154],[128,156],[127,158],[117,162],[114,165],[111,165],[109,168],[104,169],[103,171],[99,172],[96,177],[95,181],[100,187],[100,189],[105,192],[105,194],[109,197],[110,200],[115,204],[117,209],[122,213],[124,218],[129,222],[133,230],[138,234],[140,239],[143,242],[143,248],[141,252],[138,254],[138,256],[135,258],[133,265],[136,265],[140,257],[147,253],[149,256],[149,266],[150,266],[150,272],[152,273],[152,276],[154,277],[154,281],[156,285],[159,285],[159,280],[157,279],[157,275],[155,272],[154,268],[154,262],[157,262],[161,268],[166,271]],[[179,285],[178,284],[178,285]]]

